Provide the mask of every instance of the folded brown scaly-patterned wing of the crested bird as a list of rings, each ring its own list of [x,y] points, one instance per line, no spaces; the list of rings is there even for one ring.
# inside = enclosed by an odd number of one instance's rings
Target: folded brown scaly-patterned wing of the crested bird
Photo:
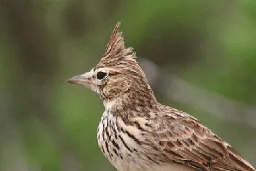
[[[255,171],[229,144],[188,114],[165,112],[152,122],[156,146],[173,162],[197,170]]]

